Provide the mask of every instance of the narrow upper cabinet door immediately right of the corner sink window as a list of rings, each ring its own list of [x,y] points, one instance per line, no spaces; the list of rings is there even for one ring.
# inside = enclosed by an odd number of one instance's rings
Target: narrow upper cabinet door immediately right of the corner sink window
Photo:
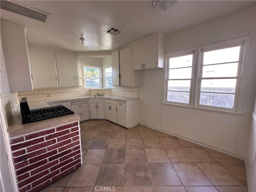
[[[120,78],[119,78],[119,51],[115,51],[111,54],[112,60],[112,84],[113,86],[120,85]]]

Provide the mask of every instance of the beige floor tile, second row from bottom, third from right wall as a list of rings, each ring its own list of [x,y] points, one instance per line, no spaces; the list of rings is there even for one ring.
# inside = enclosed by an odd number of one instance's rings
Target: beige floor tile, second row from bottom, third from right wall
[[[173,163],[182,183],[186,186],[211,186],[211,182],[195,163]]]

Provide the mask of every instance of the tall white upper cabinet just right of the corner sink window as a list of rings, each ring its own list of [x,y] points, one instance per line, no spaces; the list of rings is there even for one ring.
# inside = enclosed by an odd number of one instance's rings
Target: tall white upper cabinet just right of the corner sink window
[[[132,70],[131,47],[112,53],[113,86],[139,86],[140,74]]]

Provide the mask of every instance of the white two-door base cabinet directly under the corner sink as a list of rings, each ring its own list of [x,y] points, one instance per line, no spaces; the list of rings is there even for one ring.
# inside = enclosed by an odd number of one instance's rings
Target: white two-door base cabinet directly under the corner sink
[[[90,100],[90,118],[91,119],[104,119],[104,100]]]

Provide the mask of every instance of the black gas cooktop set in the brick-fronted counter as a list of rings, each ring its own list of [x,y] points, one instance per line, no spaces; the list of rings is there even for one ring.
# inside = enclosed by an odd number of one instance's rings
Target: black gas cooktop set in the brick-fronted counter
[[[26,97],[23,97],[20,101],[20,111],[22,124],[74,114],[73,111],[62,105],[30,110]]]

